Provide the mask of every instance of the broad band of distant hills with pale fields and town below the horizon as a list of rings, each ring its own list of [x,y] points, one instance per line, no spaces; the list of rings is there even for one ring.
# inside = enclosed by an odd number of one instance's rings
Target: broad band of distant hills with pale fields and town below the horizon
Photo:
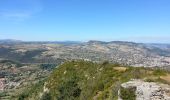
[[[126,41],[15,41],[0,42],[0,58],[22,63],[55,63],[84,59],[131,66],[170,66],[170,45]]]

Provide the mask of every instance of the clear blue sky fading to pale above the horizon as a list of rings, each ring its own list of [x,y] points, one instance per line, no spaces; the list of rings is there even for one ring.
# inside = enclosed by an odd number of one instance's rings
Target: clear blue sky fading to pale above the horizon
[[[0,0],[0,39],[170,43],[170,0]]]

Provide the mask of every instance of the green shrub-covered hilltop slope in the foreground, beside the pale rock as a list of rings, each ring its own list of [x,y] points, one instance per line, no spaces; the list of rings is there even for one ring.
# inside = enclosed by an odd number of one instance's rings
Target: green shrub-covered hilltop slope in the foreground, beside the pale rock
[[[167,72],[164,72],[167,73]],[[34,89],[26,98],[41,100],[117,100],[118,90],[130,79],[159,78],[161,70],[102,64],[88,61],[68,61],[56,68],[44,86],[47,91]],[[126,97],[126,90],[122,90]],[[43,94],[40,96],[40,94]],[[133,95],[134,97],[134,95]]]

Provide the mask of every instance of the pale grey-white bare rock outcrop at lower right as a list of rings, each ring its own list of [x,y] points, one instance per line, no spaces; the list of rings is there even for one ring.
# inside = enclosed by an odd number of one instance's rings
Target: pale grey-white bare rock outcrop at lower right
[[[170,100],[170,86],[142,80],[131,80],[121,85],[123,88],[136,87],[136,100]],[[120,91],[119,91],[119,99]]]

